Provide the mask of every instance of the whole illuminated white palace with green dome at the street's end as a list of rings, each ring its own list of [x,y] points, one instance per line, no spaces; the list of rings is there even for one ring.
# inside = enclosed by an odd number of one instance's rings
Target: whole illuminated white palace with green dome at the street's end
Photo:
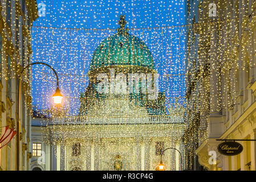
[[[119,24],[116,34],[103,40],[92,56],[90,84],[80,94],[79,115],[49,119],[46,139],[33,139],[32,134],[32,142],[48,141],[48,169],[155,170],[161,151],[168,147],[177,148],[184,159],[184,109],[177,103],[166,114],[165,93],[149,90],[157,84],[151,52],[142,40],[128,33],[124,16]],[[138,80],[129,74],[139,76]],[[99,87],[100,82],[103,85]],[[115,85],[113,90],[111,84]],[[144,86],[147,92],[143,91]],[[126,92],[124,88],[128,87],[131,90]],[[180,170],[178,152],[168,150],[162,159],[166,170]],[[39,167],[37,160],[32,158],[31,169],[47,169]]]

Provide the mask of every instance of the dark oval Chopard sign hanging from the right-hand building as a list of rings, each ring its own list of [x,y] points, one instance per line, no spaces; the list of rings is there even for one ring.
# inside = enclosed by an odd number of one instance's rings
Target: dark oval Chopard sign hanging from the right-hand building
[[[222,142],[218,145],[218,151],[223,155],[238,155],[243,151],[243,146],[238,142]]]

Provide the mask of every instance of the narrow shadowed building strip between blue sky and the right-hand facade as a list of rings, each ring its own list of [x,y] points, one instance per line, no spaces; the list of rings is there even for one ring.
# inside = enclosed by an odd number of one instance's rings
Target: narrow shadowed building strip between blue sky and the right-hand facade
[[[186,24],[198,23],[198,4],[199,1],[187,1],[186,3]],[[190,64],[193,60],[197,60],[198,57],[198,47],[199,47],[199,36],[192,26],[188,26],[186,30],[188,33],[186,36],[186,73],[188,73],[188,79],[186,80],[186,85],[192,84],[192,74],[194,69],[197,69],[197,65]],[[197,90],[194,90],[194,95],[198,94]],[[197,115],[197,106],[194,102],[194,98],[191,99],[189,95],[189,90],[186,93],[187,99],[187,112],[185,115],[185,121],[188,123],[188,128],[185,130],[184,142],[185,142],[185,152],[186,152],[186,163],[185,169],[188,170],[201,170],[202,167],[198,162],[198,156],[195,154],[196,148],[198,147],[198,139],[191,134],[198,132],[198,117],[193,117]],[[195,113],[194,113],[195,112]],[[186,140],[190,139],[190,140]]]

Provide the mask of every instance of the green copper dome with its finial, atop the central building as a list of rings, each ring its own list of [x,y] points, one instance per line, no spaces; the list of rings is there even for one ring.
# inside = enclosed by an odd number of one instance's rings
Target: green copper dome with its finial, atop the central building
[[[103,40],[92,56],[90,71],[112,65],[133,65],[155,69],[151,52],[146,44],[127,32],[126,21],[120,16],[117,33]]]

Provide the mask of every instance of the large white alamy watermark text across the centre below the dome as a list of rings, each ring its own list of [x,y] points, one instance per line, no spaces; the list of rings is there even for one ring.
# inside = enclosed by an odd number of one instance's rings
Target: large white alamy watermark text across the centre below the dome
[[[128,82],[127,82],[128,78]],[[110,69],[97,75],[97,92],[104,94],[148,93],[149,100],[155,100],[159,94],[159,74],[155,73],[117,73]],[[127,85],[128,83],[128,85]]]

